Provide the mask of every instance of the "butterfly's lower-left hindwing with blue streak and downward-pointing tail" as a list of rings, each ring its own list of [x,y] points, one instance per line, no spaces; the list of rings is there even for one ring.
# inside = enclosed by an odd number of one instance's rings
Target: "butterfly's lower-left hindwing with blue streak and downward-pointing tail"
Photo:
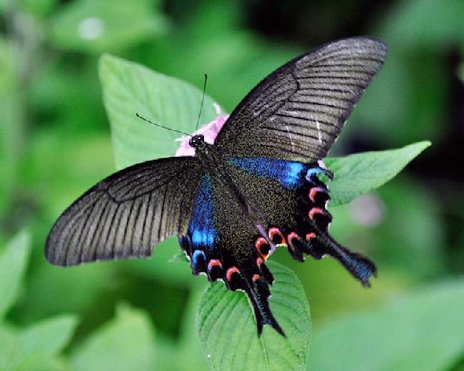
[[[258,333],[268,324],[283,335],[268,303],[273,276],[253,247],[256,226],[218,173],[203,176],[192,215],[179,242],[193,274],[205,273],[211,281],[223,280],[229,290],[243,290]]]

